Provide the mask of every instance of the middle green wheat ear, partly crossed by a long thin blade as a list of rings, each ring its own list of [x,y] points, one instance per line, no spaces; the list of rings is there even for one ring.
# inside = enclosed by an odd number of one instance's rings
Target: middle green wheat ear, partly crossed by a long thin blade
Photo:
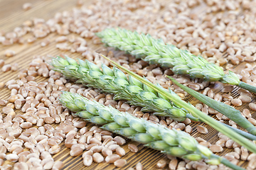
[[[85,86],[115,94],[114,100],[127,100],[132,105],[142,106],[142,111],[154,111],[155,115],[169,116],[177,121],[183,121],[187,116],[193,118],[184,108],[172,103],[149,86],[130,76],[127,79],[126,75],[116,67],[110,69],[102,64],[100,68],[87,60],[79,60],[78,64],[69,57],[66,60],[61,57],[53,58],[50,64],[54,67],[53,70],[63,73],[68,79],[76,79]],[[174,92],[170,92],[177,96]]]

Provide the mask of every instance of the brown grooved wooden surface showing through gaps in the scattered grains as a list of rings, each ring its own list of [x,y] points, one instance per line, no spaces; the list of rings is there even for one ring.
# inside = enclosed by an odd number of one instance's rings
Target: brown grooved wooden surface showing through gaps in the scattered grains
[[[31,2],[32,8],[28,11],[22,10],[22,5],[26,2]],[[88,0],[85,1],[85,4],[90,4],[92,1]],[[14,30],[17,26],[21,26],[24,21],[27,21],[32,18],[44,18],[47,20],[48,18],[52,18],[54,14],[58,11],[65,11],[65,10],[71,10],[73,7],[75,7],[76,1],[73,0],[0,0],[0,31],[4,30],[6,33]],[[201,13],[203,11],[203,8],[197,8],[195,9],[197,13]],[[28,67],[28,64],[31,62],[33,56],[35,55],[50,55],[50,56],[56,56],[60,54],[68,55],[72,58],[82,58],[80,54],[78,53],[71,53],[71,52],[63,52],[55,48],[56,42],[55,38],[59,35],[55,33],[51,33],[46,38],[41,38],[36,40],[35,42],[31,44],[24,44],[24,45],[11,45],[11,46],[3,46],[0,45],[0,59],[4,59],[6,64],[11,64],[13,62],[17,62],[19,65],[19,70],[25,69]],[[41,42],[46,39],[50,40],[50,44],[46,47],[41,47]],[[88,40],[88,46],[91,47],[93,50],[97,50],[97,52],[100,52],[103,45],[92,45],[92,42]],[[16,52],[16,55],[14,57],[5,57],[4,52],[6,50],[14,50]],[[115,52],[117,53],[117,52]],[[242,65],[245,63],[242,63],[235,67],[235,69],[240,69]],[[16,72],[1,72],[0,74],[0,81],[6,82],[10,79],[17,79]],[[40,81],[46,81],[43,77],[37,77],[37,82]],[[216,89],[216,91],[219,91]],[[7,88],[0,90],[0,98],[1,99],[7,99],[10,95],[10,91]],[[233,93],[232,96],[237,96],[237,93]],[[191,102],[193,105],[198,103],[196,99],[194,99],[191,96],[188,96],[186,98],[186,101]],[[255,102],[255,95],[252,97],[252,102]],[[2,108],[2,107],[1,107]],[[0,109],[1,109],[0,108]],[[240,111],[242,111],[244,108],[249,108],[248,104],[243,104],[242,106],[238,107]],[[0,110],[1,111],[1,110]],[[16,110],[16,113],[21,113],[21,111]],[[256,114],[254,113],[253,118],[256,117]],[[198,134],[196,131],[196,123],[191,123],[191,126],[193,128],[193,137],[202,137],[205,140],[208,140],[210,143],[216,142],[218,140],[217,134],[218,132],[216,130],[213,130],[213,128],[210,128],[208,125],[205,125],[204,123],[200,123],[201,125],[206,126],[208,128],[208,134],[202,135]],[[91,125],[91,124],[88,124]],[[135,144],[139,147],[139,152],[136,154],[129,152],[128,144]],[[168,158],[166,155],[161,154],[161,152],[155,151],[153,149],[149,149],[146,147],[143,147],[143,145],[140,145],[137,142],[132,142],[131,140],[127,140],[127,143],[123,146],[127,154],[122,157],[122,159],[127,160],[127,166],[124,166],[122,169],[128,169],[129,167],[134,167],[138,162],[141,162],[144,166],[144,169],[157,169],[156,168],[156,162],[159,161],[159,159],[165,159],[166,161]],[[220,155],[224,155],[227,152],[232,151],[232,149],[225,148],[224,151]],[[116,169],[113,164],[107,164],[107,163],[101,163],[96,164],[93,163],[92,166],[86,167],[82,164],[82,156],[79,157],[70,157],[69,155],[70,149],[66,148],[64,146],[64,142],[61,143],[61,151],[58,154],[55,154],[53,158],[56,160],[60,160],[64,162],[65,166],[63,169]],[[4,164],[13,164],[10,162],[5,162]],[[240,162],[239,165],[246,166],[245,162]]]

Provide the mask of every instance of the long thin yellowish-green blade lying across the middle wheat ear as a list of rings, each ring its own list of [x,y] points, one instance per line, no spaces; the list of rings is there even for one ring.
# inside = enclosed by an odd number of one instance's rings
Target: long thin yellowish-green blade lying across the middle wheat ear
[[[102,57],[105,57],[101,55]],[[166,98],[169,98],[171,101],[173,101],[176,105],[181,106],[185,108],[187,111],[192,113],[193,116],[200,118],[204,123],[207,123],[215,130],[218,130],[218,132],[223,133],[227,137],[230,137],[230,139],[234,140],[238,144],[242,145],[243,147],[247,148],[251,152],[256,153],[256,146],[247,140],[245,137],[242,137],[242,135],[239,135],[237,132],[234,132],[233,130],[230,130],[230,128],[225,127],[225,125],[222,125],[217,120],[214,120],[210,116],[202,113],[201,111],[198,111],[197,108],[193,107],[191,104],[186,103],[185,101],[182,101],[181,98],[179,98],[176,94],[169,94],[166,92],[166,90],[159,88],[158,86],[155,86],[149,81],[144,80],[142,77],[139,77],[139,75],[134,74],[133,72],[129,71],[128,69],[122,67],[121,65],[117,64],[116,62],[113,62],[112,60],[105,57],[110,63],[114,64],[119,69],[122,69],[124,72],[127,72],[127,74],[131,75],[132,77],[138,79],[139,81],[142,81],[142,83],[146,84],[147,86],[151,87],[155,91],[158,91],[160,94],[165,96]]]

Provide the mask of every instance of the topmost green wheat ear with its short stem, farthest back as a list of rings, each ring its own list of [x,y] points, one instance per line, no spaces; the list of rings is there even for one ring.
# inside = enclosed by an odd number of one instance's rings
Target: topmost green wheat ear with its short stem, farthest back
[[[209,63],[201,56],[192,55],[186,50],[179,50],[174,45],[155,40],[151,35],[139,34],[125,29],[105,29],[96,35],[102,42],[119,50],[124,50],[150,64],[170,67],[176,74],[189,74],[193,78],[206,81],[221,81],[225,84],[240,86],[256,94],[256,87],[246,84],[233,72],[224,74],[223,69]]]

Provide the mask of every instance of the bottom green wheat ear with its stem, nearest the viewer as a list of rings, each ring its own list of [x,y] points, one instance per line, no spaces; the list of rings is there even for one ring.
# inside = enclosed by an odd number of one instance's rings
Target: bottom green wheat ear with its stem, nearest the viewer
[[[89,101],[79,94],[72,94],[67,91],[60,95],[59,101],[70,111],[77,112],[75,115],[80,118],[97,125],[103,125],[103,129],[141,142],[146,147],[191,161],[208,159],[206,162],[209,164],[222,163],[232,169],[242,169],[231,164],[227,159],[213,154],[208,147],[199,145],[186,132],[170,130],[163,125],[156,125],[142,118],[135,118],[129,113],[119,112],[111,106],[103,106],[96,101]]]

